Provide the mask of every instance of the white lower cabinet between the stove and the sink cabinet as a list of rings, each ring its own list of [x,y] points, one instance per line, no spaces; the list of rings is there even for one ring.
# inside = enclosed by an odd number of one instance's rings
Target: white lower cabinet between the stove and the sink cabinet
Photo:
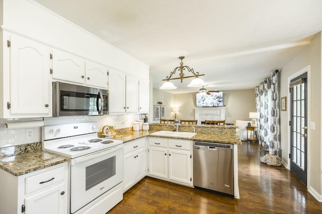
[[[146,175],[146,139],[124,144],[123,192]]]

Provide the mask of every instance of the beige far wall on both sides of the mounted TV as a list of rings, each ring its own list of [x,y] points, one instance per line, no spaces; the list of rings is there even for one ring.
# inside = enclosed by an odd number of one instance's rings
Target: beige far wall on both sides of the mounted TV
[[[166,98],[167,96],[169,97]],[[177,113],[177,118],[179,120],[195,119],[195,111],[193,109],[196,107],[195,93],[171,94],[153,89],[154,104],[158,101],[156,99],[168,100],[167,103],[170,103],[175,107],[179,107],[179,112]],[[249,112],[256,111],[255,89],[224,91],[223,103],[227,107],[227,123],[234,123],[236,120],[250,120]],[[170,115],[172,116],[170,118],[173,118],[171,107],[171,105],[166,105],[166,118],[168,118],[167,115]]]

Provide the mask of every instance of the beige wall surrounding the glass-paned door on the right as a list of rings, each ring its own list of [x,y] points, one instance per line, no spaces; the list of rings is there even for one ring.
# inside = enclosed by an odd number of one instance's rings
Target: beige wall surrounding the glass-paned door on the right
[[[310,95],[308,97],[308,188],[313,188],[321,194],[321,34],[317,34],[311,44],[294,57],[281,71],[280,97],[287,96],[289,100],[288,78],[310,65]],[[280,112],[282,158],[289,164],[289,129],[287,111]],[[315,123],[315,129],[310,129],[310,122]]]

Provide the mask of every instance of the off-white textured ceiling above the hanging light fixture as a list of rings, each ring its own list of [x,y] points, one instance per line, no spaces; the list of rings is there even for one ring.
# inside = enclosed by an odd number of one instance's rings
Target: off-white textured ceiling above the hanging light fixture
[[[148,64],[154,88],[179,56],[205,74],[208,90],[255,88],[322,30],[320,0],[35,2]],[[198,91],[190,80],[173,81],[178,89],[168,92]]]

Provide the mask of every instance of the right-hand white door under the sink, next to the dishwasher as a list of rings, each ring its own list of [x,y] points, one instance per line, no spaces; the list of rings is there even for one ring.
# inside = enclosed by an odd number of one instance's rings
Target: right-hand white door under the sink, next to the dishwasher
[[[190,151],[169,149],[169,179],[191,184]]]

